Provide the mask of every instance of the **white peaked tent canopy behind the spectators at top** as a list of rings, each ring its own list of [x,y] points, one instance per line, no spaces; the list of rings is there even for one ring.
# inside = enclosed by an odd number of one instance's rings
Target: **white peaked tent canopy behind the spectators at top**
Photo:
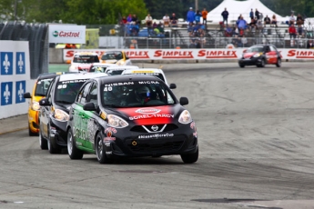
[[[238,16],[242,15],[247,22],[250,22],[249,12],[253,9],[255,15],[255,9],[258,9],[258,12],[263,14],[263,19],[266,15],[271,19],[272,15],[276,15],[277,21],[286,21],[287,17],[282,17],[270,9],[266,5],[263,5],[259,0],[247,0],[247,1],[236,1],[236,0],[224,0],[220,5],[218,5],[215,9],[208,12],[208,21],[212,21],[213,23],[219,23],[223,20],[221,13],[227,8],[229,13],[228,15],[228,23],[231,21],[237,21]]]

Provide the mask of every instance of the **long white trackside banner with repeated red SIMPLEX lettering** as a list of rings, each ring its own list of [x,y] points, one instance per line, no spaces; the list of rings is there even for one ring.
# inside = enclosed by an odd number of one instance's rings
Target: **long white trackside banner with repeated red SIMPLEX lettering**
[[[79,52],[94,52],[100,56],[106,51],[125,51],[131,60],[237,60],[245,49],[64,49],[64,61]],[[313,49],[279,49],[279,53],[282,59],[314,59]]]

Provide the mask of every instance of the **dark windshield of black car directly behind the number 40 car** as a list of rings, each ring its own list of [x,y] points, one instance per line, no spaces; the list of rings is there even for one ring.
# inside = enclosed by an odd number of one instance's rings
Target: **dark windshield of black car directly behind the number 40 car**
[[[72,82],[72,83],[71,83]],[[63,81],[56,85],[56,103],[73,104],[76,100],[76,95],[81,86],[86,80],[79,81]]]

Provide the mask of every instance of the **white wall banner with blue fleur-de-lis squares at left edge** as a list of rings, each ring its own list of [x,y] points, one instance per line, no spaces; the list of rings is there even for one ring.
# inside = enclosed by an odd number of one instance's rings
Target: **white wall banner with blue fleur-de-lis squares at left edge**
[[[25,92],[32,91],[26,41],[0,41],[0,119],[26,114]]]

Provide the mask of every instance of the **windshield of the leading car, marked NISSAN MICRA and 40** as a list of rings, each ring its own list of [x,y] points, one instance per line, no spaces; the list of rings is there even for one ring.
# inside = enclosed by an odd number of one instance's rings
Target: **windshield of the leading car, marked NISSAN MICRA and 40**
[[[107,107],[137,107],[176,104],[167,85],[158,81],[120,82],[101,87],[102,104]]]

